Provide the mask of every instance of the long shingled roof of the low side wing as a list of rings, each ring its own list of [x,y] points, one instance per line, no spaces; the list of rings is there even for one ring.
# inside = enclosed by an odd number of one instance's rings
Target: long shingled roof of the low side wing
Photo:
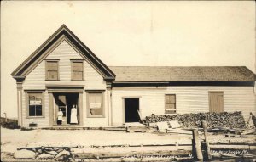
[[[113,82],[255,81],[245,66],[109,66]]]

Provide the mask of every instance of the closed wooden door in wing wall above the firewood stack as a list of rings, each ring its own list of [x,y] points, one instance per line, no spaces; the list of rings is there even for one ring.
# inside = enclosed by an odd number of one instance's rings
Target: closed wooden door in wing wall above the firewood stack
[[[210,112],[220,113],[224,111],[223,92],[209,92],[209,110]]]

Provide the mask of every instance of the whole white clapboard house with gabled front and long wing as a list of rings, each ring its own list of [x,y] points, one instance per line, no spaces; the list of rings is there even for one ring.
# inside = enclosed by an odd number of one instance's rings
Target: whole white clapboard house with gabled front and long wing
[[[152,114],[223,111],[247,118],[256,112],[255,75],[247,67],[108,66],[65,25],[11,75],[23,127],[121,126]],[[73,107],[78,123],[71,122]]]

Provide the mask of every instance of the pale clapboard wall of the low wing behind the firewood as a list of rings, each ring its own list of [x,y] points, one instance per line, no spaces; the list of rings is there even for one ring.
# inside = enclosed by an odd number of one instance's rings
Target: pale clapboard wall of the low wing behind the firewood
[[[177,113],[209,112],[209,91],[224,92],[224,111],[242,111],[245,118],[256,112],[253,87],[113,87],[113,125],[124,122],[124,96],[141,96],[143,117],[165,114],[165,94],[176,94]]]

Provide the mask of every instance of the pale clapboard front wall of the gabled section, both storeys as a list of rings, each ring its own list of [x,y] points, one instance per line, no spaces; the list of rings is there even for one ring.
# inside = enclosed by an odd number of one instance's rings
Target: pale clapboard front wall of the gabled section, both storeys
[[[60,81],[45,81],[45,61],[43,60],[38,66],[32,70],[23,82],[22,92],[22,126],[28,126],[29,123],[38,123],[38,127],[49,126],[49,94],[46,85],[83,85],[84,90],[106,90],[106,82],[103,80],[94,67],[84,59],[84,81],[71,81],[71,61],[70,59],[83,59],[82,56],[65,40],[63,40],[55,49],[49,53],[46,59],[60,59],[59,73]],[[45,90],[44,118],[26,118],[26,90]],[[96,118],[86,118],[86,97],[83,93],[83,109],[84,109],[84,125],[91,125],[96,121]],[[104,98],[104,103],[107,102]],[[106,107],[105,107],[106,109]],[[107,118],[107,117],[106,117]],[[97,120],[97,125],[106,125],[107,119]]]

